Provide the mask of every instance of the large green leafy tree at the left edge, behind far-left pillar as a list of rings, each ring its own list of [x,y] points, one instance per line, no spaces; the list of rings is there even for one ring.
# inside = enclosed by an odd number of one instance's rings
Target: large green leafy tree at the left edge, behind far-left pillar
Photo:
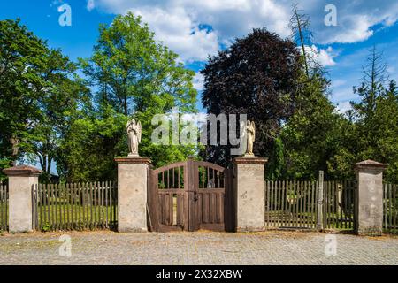
[[[59,136],[86,89],[75,75],[76,65],[19,19],[0,21],[0,38],[2,159],[39,160],[48,180]]]

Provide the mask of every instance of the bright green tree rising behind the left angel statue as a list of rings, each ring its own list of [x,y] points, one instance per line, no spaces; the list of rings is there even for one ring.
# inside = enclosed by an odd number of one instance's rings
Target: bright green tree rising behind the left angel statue
[[[130,12],[99,31],[92,57],[80,59],[94,95],[87,116],[76,119],[65,135],[65,157],[59,161],[68,179],[113,178],[113,158],[127,154],[125,126],[133,117],[142,122],[140,155],[150,157],[155,166],[195,154],[194,147],[150,141],[154,115],[170,113],[173,107],[196,111],[195,73],[178,63],[178,55],[156,42],[148,25]]]

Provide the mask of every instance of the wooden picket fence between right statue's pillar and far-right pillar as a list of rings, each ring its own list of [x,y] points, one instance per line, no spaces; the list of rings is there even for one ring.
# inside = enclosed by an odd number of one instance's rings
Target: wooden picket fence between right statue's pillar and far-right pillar
[[[265,225],[269,228],[355,228],[355,181],[265,181]],[[319,205],[321,203],[321,205]],[[322,219],[318,219],[318,210]]]

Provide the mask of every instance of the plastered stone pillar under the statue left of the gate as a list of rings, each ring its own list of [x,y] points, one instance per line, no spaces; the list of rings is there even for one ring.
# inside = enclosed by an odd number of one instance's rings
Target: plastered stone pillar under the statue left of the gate
[[[147,185],[150,160],[115,158],[118,163],[118,231],[147,232]]]

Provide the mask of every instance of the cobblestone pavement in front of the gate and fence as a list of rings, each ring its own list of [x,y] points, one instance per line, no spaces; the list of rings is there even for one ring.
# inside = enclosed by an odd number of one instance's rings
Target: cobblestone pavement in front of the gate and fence
[[[63,234],[71,236],[71,256],[59,255]],[[326,256],[334,236],[337,254]],[[398,264],[398,238],[276,231],[5,234],[0,264]]]

